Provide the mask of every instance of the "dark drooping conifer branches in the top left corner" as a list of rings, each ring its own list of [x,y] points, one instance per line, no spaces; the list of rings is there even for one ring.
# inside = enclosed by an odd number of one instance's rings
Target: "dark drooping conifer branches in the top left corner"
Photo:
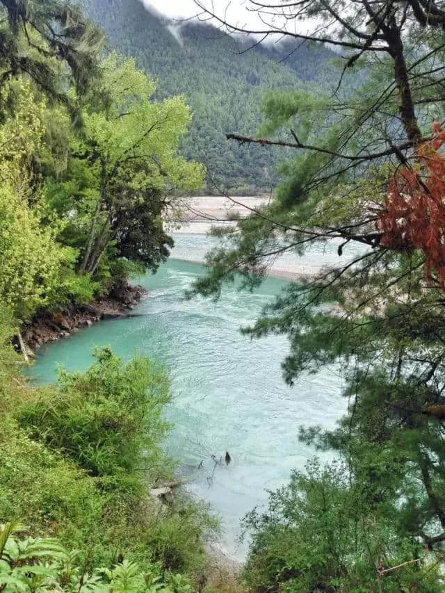
[[[90,88],[103,45],[102,31],[88,22],[76,3],[0,2],[1,88],[17,74],[26,74],[49,98],[74,110],[67,84],[74,83],[79,92]]]

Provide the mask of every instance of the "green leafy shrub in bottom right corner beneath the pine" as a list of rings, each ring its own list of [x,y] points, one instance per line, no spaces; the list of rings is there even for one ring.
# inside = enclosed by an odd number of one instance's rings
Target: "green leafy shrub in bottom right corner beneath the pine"
[[[270,494],[266,512],[246,517],[252,544],[245,581],[253,590],[286,593],[439,593],[437,564],[419,542],[398,533],[394,514],[366,499],[345,464],[311,462],[307,473],[294,472],[288,486]],[[381,564],[404,562],[379,576]]]

